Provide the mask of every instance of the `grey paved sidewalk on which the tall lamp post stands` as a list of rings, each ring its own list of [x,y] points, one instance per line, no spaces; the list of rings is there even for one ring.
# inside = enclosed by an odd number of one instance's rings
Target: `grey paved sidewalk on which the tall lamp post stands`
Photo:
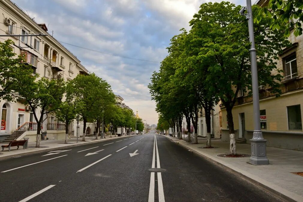
[[[229,142],[212,140],[211,146],[218,148],[203,149],[199,147],[206,146],[206,139],[199,138],[198,144],[191,144],[167,135],[165,137],[182,147],[208,158],[210,161],[223,166],[284,200],[303,201],[303,177],[291,173],[303,172],[303,151],[266,147],[270,165],[255,166],[247,163],[249,157],[218,157],[218,154],[229,153]],[[250,145],[237,144],[237,153],[250,155]]]

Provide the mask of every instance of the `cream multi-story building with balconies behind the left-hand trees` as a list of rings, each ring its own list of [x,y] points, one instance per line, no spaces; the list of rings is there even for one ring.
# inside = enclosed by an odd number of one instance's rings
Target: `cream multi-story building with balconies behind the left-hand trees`
[[[17,55],[26,56],[24,63],[31,64],[34,73],[39,78],[48,79],[63,78],[72,80],[77,74],[88,74],[88,70],[80,64],[80,60],[60,44],[52,35],[48,34],[45,24],[36,23],[21,8],[10,0],[0,0],[0,33],[7,36],[1,37],[4,42],[11,39],[15,44],[12,46]],[[47,36],[11,36],[14,34],[48,34]],[[0,100],[0,118],[2,125],[0,129],[0,140],[11,135],[16,129],[26,122],[35,122],[32,111],[28,106],[20,102],[9,103]],[[37,110],[39,111],[39,110]],[[45,117],[46,118],[46,117]],[[56,124],[56,125],[55,125]],[[60,127],[54,115],[49,115],[43,122],[42,131],[47,131],[50,139],[65,138],[65,132]],[[59,130],[61,129],[61,130]],[[73,135],[73,124],[69,126],[69,135]],[[27,131],[29,141],[35,141],[36,131]]]

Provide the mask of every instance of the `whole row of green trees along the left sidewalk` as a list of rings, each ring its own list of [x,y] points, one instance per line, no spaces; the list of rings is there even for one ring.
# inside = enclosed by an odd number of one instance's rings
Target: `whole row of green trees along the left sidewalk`
[[[77,116],[84,123],[83,141],[88,120],[96,123],[99,133],[102,122],[103,131],[105,125],[110,126],[110,132],[116,127],[135,128],[133,111],[116,105],[115,95],[105,80],[94,73],[77,75],[67,82],[61,78],[38,78],[31,65],[22,63],[22,55],[16,57],[12,44],[11,40],[0,42],[0,96],[9,102],[19,101],[31,107],[37,122],[36,147],[40,146],[41,125],[50,114],[65,123],[65,143],[68,125]],[[138,128],[143,130],[140,124]]]

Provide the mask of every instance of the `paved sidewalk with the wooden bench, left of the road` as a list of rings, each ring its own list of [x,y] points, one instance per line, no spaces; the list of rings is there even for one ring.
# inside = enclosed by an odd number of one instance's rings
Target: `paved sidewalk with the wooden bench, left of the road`
[[[87,144],[92,144],[96,142],[103,142],[107,140],[112,140],[112,139],[118,139],[118,138],[125,138],[125,137],[130,137],[130,136],[135,136],[135,135],[124,135],[121,137],[115,137],[115,135],[112,135],[112,138],[109,135],[106,135],[105,139],[100,139],[98,136],[98,140],[90,140],[89,137],[85,137],[85,142],[82,142],[82,138],[78,138],[78,143],[77,143],[77,138],[72,138],[72,139],[67,139],[68,144],[64,144],[65,140],[42,140],[40,141],[40,148],[35,148],[36,142],[28,142],[28,148],[23,149],[23,146],[20,146],[19,149],[17,150],[17,147],[12,147],[11,151],[8,151],[8,148],[4,148],[4,151],[2,151],[2,148],[0,150],[0,160],[6,159],[6,158],[12,158],[12,157],[19,157],[22,155],[28,155],[28,154],[34,154],[34,153],[41,153],[45,151],[52,151],[55,148],[57,149],[64,149],[64,148],[69,148],[69,147],[74,147],[74,146],[79,146],[79,145],[87,145]],[[7,143],[0,143],[0,146],[2,145],[8,145]]]

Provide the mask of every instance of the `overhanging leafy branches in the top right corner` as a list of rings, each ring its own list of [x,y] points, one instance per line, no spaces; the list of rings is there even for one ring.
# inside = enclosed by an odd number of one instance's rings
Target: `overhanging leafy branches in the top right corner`
[[[302,34],[301,23],[303,21],[302,0],[269,0],[267,6],[260,9],[254,21],[258,24],[262,18],[271,18],[270,28],[283,31],[289,36],[290,30],[294,28],[295,36]]]

